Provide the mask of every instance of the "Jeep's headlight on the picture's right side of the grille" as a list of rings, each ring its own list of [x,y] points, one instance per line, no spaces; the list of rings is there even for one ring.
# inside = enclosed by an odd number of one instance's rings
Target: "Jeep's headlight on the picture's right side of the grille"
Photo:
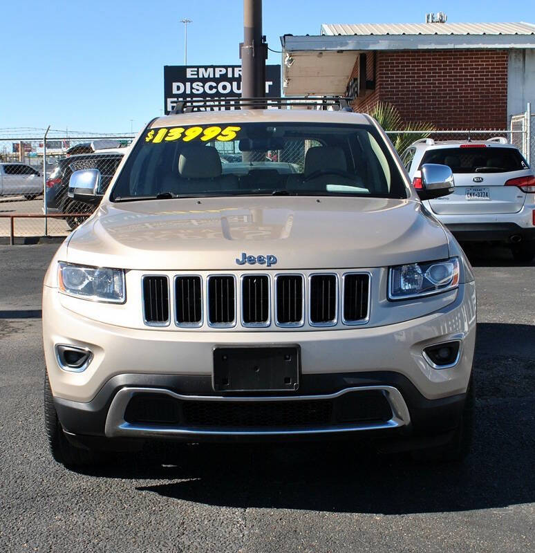
[[[456,288],[459,283],[459,259],[411,263],[390,268],[388,299],[429,296]]]

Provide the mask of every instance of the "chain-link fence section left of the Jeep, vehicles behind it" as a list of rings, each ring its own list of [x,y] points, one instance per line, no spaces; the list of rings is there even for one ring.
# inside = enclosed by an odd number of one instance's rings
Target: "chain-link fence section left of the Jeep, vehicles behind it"
[[[73,171],[99,169],[107,186],[133,137],[22,131],[0,129],[0,240],[66,236],[95,209],[68,198]]]

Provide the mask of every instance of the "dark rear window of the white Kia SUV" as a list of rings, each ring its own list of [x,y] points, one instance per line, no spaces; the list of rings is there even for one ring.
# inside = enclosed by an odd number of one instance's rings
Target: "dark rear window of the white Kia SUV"
[[[527,169],[527,163],[515,148],[487,147],[466,144],[440,148],[424,153],[422,163],[448,165],[453,173],[506,173]]]

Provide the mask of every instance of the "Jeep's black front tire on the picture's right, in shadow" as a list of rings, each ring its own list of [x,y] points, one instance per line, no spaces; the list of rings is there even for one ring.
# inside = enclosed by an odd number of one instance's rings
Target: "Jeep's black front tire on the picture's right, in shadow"
[[[451,438],[445,444],[417,449],[412,456],[418,461],[451,462],[462,461],[470,452],[472,437],[476,395],[474,392],[473,378],[468,385],[467,397],[462,409],[461,421],[453,432]]]

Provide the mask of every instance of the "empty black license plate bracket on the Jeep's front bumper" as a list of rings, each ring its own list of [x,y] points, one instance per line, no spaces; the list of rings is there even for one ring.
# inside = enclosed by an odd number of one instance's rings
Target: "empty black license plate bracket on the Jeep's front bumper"
[[[215,391],[283,392],[299,388],[299,346],[216,347]]]

